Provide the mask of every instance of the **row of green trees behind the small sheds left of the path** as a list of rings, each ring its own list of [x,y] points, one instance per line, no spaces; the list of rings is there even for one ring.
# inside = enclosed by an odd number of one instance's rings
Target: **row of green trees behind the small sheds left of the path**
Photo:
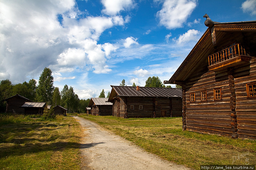
[[[0,112],[5,112],[6,102],[4,99],[19,94],[34,102],[46,102],[47,105],[55,107],[61,105],[68,112],[85,112],[90,99],[79,99],[75,94],[73,87],[67,84],[59,91],[58,87],[53,86],[53,76],[51,69],[45,67],[39,77],[38,86],[36,80],[31,79],[28,82],[12,84],[11,80],[0,81]]]

